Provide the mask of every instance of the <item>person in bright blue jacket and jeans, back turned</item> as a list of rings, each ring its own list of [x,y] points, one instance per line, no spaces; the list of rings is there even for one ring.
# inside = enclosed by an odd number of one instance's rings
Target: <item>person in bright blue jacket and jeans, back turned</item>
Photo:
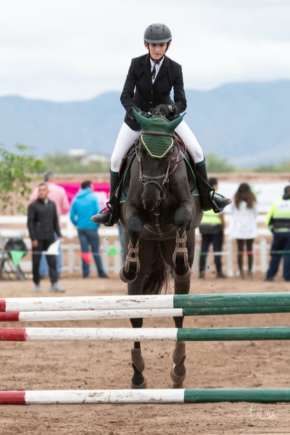
[[[78,239],[81,244],[82,254],[88,254],[89,245],[92,249],[92,255],[95,259],[97,272],[100,278],[108,278],[102,265],[102,259],[99,254],[99,233],[97,228],[99,224],[92,222],[90,216],[96,214],[100,209],[97,195],[92,192],[92,182],[83,181],[81,191],[79,191],[71,202],[70,219],[78,229]],[[90,275],[90,264],[88,257],[82,256],[83,278]]]

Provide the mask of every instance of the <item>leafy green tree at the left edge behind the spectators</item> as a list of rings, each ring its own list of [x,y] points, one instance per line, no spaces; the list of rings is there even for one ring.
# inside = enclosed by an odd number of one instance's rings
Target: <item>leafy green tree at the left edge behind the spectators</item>
[[[0,144],[0,209],[12,214],[25,212],[23,202],[29,198],[32,174],[39,172],[42,160],[27,156],[27,146],[16,144],[19,153],[11,153]]]

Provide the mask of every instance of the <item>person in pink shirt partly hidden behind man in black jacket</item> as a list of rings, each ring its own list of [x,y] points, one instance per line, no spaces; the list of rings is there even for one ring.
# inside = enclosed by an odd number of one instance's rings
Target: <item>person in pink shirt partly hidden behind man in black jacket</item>
[[[43,174],[43,180],[48,186],[48,198],[55,202],[57,207],[57,218],[60,226],[60,216],[69,212],[69,200],[67,198],[67,192],[62,186],[55,184],[55,172],[47,170]],[[38,196],[38,188],[36,188],[30,197],[31,201],[36,200]],[[57,234],[55,234],[55,240],[57,240]],[[48,275],[48,262],[46,256],[41,256],[41,262],[39,265],[39,273],[41,277]],[[57,275],[62,274],[62,249],[60,247],[59,254],[57,255]]]

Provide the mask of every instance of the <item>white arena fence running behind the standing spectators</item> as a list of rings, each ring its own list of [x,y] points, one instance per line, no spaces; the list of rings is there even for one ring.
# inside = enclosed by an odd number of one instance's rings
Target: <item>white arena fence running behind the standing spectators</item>
[[[236,243],[229,235],[230,214],[225,214],[226,230],[225,240],[223,243],[223,272],[228,277],[235,275],[236,267]],[[66,255],[66,261],[63,265],[64,272],[80,272],[81,273],[81,256],[80,245],[77,240],[76,227],[71,223],[69,215],[61,217],[62,235],[64,236],[64,243],[62,244],[62,251]],[[27,216],[0,216],[0,235],[5,239],[10,237],[22,237],[30,249],[31,242],[27,230]],[[99,228],[100,236],[100,253],[102,262],[106,272],[118,274],[120,267],[123,264],[123,257],[121,252],[121,244],[117,226],[106,228],[104,226]],[[268,268],[270,242],[272,235],[270,230],[265,227],[265,214],[258,215],[258,237],[254,243],[254,271],[265,272]],[[195,248],[195,261],[193,263],[193,272],[198,271],[198,261],[200,254],[200,233],[197,230],[197,242]],[[27,259],[29,258],[29,259]],[[213,263],[212,247],[207,256],[208,263]],[[244,260],[244,264],[247,261]],[[20,261],[20,266],[24,272],[32,271],[31,257],[27,256]],[[95,263],[92,261],[90,265],[92,272],[95,271]],[[209,272],[213,269],[210,268]]]

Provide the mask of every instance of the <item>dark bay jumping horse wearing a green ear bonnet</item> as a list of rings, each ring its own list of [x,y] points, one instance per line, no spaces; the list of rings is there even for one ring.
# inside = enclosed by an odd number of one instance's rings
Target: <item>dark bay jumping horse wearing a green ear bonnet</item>
[[[195,228],[202,219],[198,195],[188,183],[184,154],[174,142],[174,129],[182,117],[168,121],[163,116],[146,118],[134,111],[142,126],[130,165],[127,196],[121,205],[125,264],[120,278],[129,295],[160,294],[174,278],[174,293],[188,294],[195,250]],[[183,317],[174,317],[182,328]],[[141,328],[143,319],[130,319]],[[183,386],[186,375],[184,342],[176,342],[171,378]],[[139,342],[132,349],[132,388],[146,388],[144,359]]]

